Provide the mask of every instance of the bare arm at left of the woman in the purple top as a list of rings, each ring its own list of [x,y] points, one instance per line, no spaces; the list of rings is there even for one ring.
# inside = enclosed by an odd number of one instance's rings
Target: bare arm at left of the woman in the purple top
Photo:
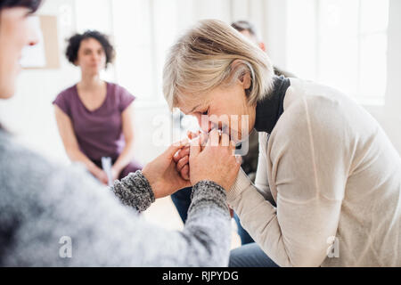
[[[71,161],[79,161],[86,166],[86,169],[97,177],[102,183],[107,184],[107,175],[97,167],[86,155],[79,150],[77,137],[69,116],[67,116],[57,105],[54,105],[54,113],[61,136],[64,149]]]

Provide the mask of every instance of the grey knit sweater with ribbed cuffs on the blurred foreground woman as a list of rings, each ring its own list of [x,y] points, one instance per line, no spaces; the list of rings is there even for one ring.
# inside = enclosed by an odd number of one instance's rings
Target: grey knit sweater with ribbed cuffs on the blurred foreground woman
[[[216,183],[193,186],[184,230],[172,231],[135,210],[153,200],[140,173],[115,184],[113,192],[83,167],[53,166],[29,151],[5,152],[2,161],[14,163],[0,164],[8,193],[0,200],[1,212],[7,212],[0,220],[10,225],[0,265],[228,265],[231,219],[225,190]]]

